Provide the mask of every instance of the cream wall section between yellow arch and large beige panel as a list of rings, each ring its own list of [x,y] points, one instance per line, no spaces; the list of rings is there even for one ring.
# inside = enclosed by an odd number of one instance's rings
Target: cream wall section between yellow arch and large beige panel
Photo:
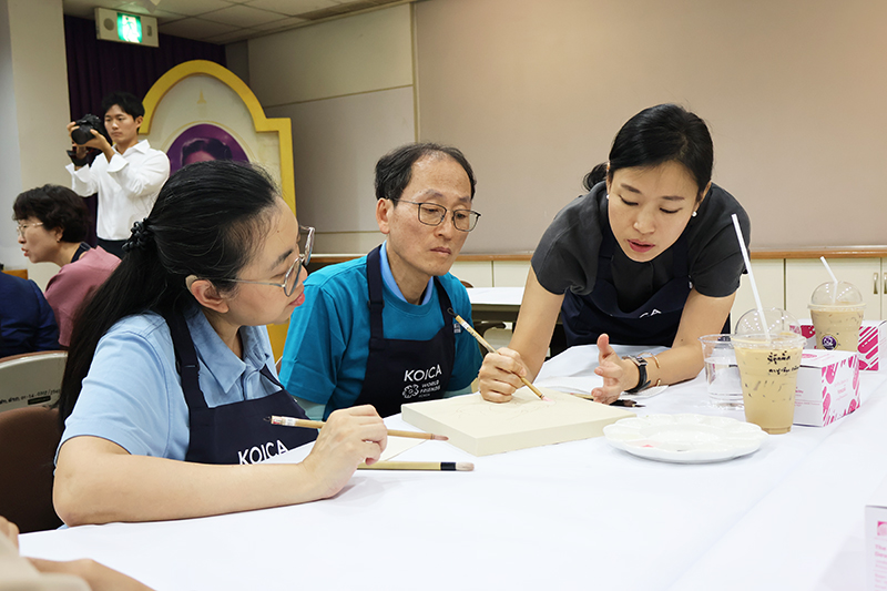
[[[248,41],[249,86],[267,116],[293,122],[296,214],[316,252],[365,253],[376,161],[416,139],[411,6]]]

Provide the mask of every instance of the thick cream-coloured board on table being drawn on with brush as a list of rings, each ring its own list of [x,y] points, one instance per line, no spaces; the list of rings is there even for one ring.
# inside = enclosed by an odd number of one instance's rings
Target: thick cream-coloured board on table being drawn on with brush
[[[634,412],[540,388],[550,401],[529,388],[509,403],[489,403],[479,394],[404,405],[402,419],[428,432],[446,435],[449,442],[473,456],[589,439],[603,435],[606,425]]]

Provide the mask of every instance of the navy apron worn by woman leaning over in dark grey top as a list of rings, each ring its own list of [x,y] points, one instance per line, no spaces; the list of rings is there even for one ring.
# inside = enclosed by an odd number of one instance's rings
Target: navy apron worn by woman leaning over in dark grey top
[[[593,344],[601,334],[606,333],[612,344],[671,347],[677,335],[686,298],[693,288],[687,269],[686,232],[671,247],[674,278],[640,308],[622,312],[613,284],[612,262],[616,243],[609,220],[602,230],[594,288],[584,296],[568,291],[563,298],[561,318],[567,346]]]

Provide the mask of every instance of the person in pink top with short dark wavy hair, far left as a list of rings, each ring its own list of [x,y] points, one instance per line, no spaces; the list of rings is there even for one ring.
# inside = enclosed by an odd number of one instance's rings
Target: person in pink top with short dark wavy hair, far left
[[[90,217],[83,197],[65,186],[43,185],[16,197],[12,212],[19,244],[31,263],[61,268],[47,284],[47,302],[59,324],[59,344],[68,348],[74,315],[111,275],[120,258],[83,242]]]

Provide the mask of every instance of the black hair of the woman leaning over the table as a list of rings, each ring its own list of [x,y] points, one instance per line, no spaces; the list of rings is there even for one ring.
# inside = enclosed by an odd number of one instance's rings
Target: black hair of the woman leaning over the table
[[[712,180],[714,165],[708,126],[683,106],[657,104],[644,109],[619,130],[610,149],[606,176],[612,180],[620,169],[657,166],[672,161],[683,164],[693,176],[697,186],[696,201],[701,200]],[[594,181],[592,175],[600,166],[585,175],[585,183]]]

